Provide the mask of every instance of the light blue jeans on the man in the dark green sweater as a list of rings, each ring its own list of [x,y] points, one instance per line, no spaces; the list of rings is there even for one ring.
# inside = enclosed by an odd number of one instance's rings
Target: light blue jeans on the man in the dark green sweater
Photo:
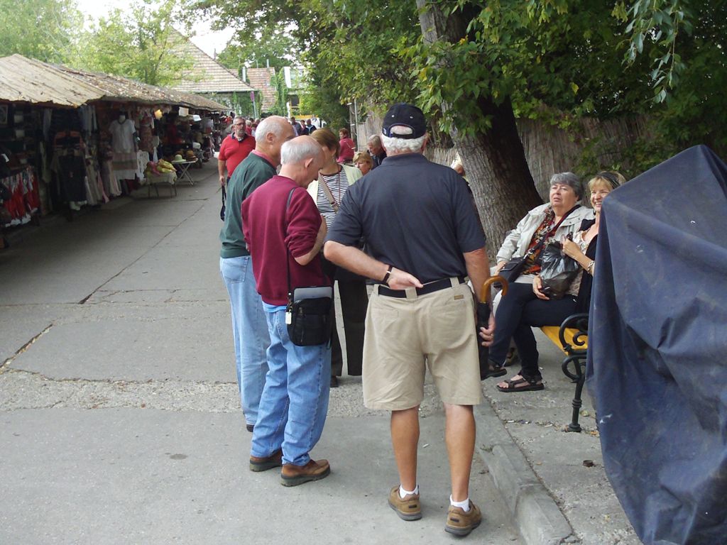
[[[268,323],[255,287],[252,259],[249,256],[220,257],[220,274],[230,295],[240,403],[246,424],[254,425],[268,372],[265,355],[270,346]]]

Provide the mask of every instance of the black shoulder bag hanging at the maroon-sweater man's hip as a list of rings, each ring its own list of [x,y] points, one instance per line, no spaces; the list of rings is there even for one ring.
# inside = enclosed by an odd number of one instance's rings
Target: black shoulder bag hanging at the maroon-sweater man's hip
[[[286,210],[294,190],[295,187],[290,190]],[[285,323],[288,326],[288,336],[299,347],[326,344],[331,339],[333,326],[333,287],[310,286],[293,289],[290,281],[290,259],[290,250],[287,250],[288,305]]]

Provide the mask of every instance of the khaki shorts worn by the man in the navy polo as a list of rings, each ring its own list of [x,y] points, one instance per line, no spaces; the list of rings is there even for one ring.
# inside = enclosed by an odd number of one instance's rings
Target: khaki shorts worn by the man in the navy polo
[[[422,403],[425,366],[444,403],[482,400],[475,302],[467,284],[406,299],[379,294],[369,299],[364,338],[364,405],[403,411]]]

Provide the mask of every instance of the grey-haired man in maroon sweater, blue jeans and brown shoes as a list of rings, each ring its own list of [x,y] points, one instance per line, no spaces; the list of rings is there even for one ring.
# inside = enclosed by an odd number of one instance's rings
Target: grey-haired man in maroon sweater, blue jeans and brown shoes
[[[286,325],[288,266],[292,288],[330,285],[318,253],[326,222],[306,188],[323,165],[321,146],[308,136],[281,148],[281,171],[242,203],[245,241],[268,320],[268,374],[252,432],[250,469],[283,466],[281,483],[295,486],[329,475],[326,460],[310,459],[328,412],[331,348],[299,347]],[[286,265],[287,264],[287,265]]]

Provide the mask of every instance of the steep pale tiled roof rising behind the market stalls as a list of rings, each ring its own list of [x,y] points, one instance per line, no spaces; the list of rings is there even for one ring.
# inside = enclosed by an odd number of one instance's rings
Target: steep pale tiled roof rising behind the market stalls
[[[232,93],[250,92],[246,84],[235,73],[222,66],[188,39],[182,40],[182,55],[191,57],[193,67],[182,74],[182,81],[174,89],[190,93]]]

